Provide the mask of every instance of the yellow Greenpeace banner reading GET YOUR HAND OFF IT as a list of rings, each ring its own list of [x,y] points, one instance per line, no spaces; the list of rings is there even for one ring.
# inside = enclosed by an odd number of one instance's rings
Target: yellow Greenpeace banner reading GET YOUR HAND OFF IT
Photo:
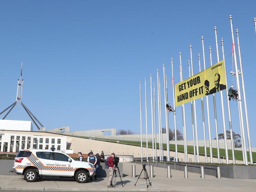
[[[226,89],[225,62],[220,61],[175,85],[176,106]]]

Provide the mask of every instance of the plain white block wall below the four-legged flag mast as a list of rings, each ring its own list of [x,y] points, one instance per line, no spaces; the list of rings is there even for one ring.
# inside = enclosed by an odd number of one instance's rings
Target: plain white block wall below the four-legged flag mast
[[[0,130],[33,131],[31,121],[0,120]]]

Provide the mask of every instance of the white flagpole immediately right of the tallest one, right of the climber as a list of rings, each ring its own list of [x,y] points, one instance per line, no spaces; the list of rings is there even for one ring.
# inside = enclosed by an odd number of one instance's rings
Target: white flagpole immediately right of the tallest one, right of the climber
[[[240,73],[241,73],[241,80],[242,80],[241,83],[242,83],[242,89],[243,89],[243,104],[245,105],[245,121],[246,121],[246,130],[247,130],[247,138],[248,138],[248,145],[249,145],[250,164],[253,164],[252,146],[250,144],[250,129],[249,129],[248,114],[247,114],[246,96],[245,96],[245,84],[243,81],[243,67],[242,67],[242,59],[241,59],[241,52],[240,52],[238,29],[236,30],[236,36],[237,36],[237,46],[238,46],[238,55],[239,55],[239,63],[240,63]]]

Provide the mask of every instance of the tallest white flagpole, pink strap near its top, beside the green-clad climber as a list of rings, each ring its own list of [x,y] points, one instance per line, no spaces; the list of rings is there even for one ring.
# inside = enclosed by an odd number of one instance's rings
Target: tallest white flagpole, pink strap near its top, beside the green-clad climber
[[[241,96],[240,81],[239,81],[239,76],[238,76],[238,68],[237,68],[237,60],[236,60],[236,46],[235,46],[235,40],[234,40],[233,24],[232,24],[232,16],[231,15],[229,16],[229,19],[230,19],[230,26],[231,26],[234,62],[235,62],[235,68],[236,68],[237,91],[238,91],[238,95]],[[242,135],[243,135],[243,148],[244,148],[244,151],[245,151],[245,164],[248,165],[247,149],[246,149],[246,143],[245,143],[245,128],[244,128],[244,125],[243,125],[243,111],[242,111],[242,103],[241,103],[241,101],[238,101],[238,105],[239,105],[238,108],[239,108],[239,112],[240,112],[241,129],[242,129]]]

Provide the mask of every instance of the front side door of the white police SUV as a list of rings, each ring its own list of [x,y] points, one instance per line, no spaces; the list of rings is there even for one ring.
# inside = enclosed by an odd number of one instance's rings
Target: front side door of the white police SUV
[[[63,153],[52,152],[52,160],[54,168],[52,168],[52,175],[71,176],[72,167],[69,162],[69,157]]]

